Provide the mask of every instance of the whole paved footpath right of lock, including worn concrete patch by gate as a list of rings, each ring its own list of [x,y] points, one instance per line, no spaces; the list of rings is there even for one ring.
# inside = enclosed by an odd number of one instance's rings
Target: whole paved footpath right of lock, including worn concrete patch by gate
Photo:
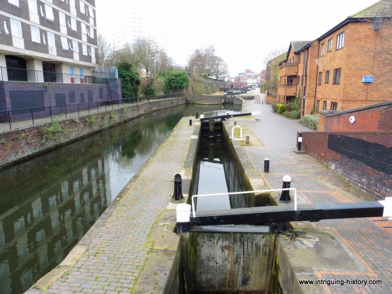
[[[244,123],[262,143],[244,150],[269,189],[282,188],[283,176],[290,175],[291,187],[297,189],[298,204],[373,201],[313,157],[294,153],[297,131],[312,130],[297,120],[275,114],[271,105],[262,104],[261,99],[263,94],[246,100],[243,110],[261,111],[260,115],[250,122],[241,118],[236,121],[239,125]],[[265,158],[270,159],[268,173],[264,172]],[[295,272],[293,280],[284,281],[286,286],[282,288],[295,290],[297,280],[302,277],[299,283],[320,285],[301,287],[302,290],[308,287],[310,293],[392,293],[392,221],[358,218],[294,223],[294,226],[301,233],[299,237],[279,237]]]

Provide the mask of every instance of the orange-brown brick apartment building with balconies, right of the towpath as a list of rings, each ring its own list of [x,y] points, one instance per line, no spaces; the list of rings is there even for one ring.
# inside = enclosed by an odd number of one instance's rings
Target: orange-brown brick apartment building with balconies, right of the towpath
[[[300,96],[301,116],[391,100],[392,65],[378,58],[392,47],[391,16],[392,0],[381,0],[312,42],[292,41],[279,64],[277,99]]]

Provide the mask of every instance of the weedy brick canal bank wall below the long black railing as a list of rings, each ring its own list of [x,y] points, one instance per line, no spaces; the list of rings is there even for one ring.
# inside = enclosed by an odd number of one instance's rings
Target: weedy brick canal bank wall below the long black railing
[[[185,104],[184,98],[150,101],[105,112],[0,133],[0,169],[145,114]]]

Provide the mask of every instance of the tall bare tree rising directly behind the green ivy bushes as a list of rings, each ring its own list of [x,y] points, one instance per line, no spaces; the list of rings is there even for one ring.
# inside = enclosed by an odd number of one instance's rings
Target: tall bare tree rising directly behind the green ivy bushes
[[[149,73],[154,67],[160,52],[155,41],[145,37],[138,38],[132,44],[132,54],[134,54],[140,67],[146,70],[146,73]]]

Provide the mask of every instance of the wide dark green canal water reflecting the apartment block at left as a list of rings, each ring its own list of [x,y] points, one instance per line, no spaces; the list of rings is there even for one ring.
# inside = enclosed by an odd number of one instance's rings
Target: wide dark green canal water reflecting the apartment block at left
[[[0,170],[0,293],[60,264],[182,117],[220,109],[161,110]]]

